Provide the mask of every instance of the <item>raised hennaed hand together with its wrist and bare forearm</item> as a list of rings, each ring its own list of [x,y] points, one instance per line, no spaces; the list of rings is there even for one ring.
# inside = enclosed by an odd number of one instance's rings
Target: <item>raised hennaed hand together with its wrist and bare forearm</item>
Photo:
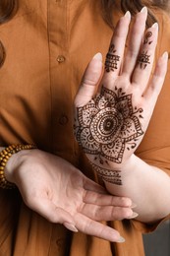
[[[89,63],[75,98],[75,135],[107,190],[130,197],[137,204],[137,220],[152,223],[170,213],[170,177],[136,157],[135,151],[161,91],[168,55],[160,56],[150,77],[158,26],[143,38],[146,16],[146,8],[136,16],[125,56],[131,16],[121,18],[104,74],[101,54]]]

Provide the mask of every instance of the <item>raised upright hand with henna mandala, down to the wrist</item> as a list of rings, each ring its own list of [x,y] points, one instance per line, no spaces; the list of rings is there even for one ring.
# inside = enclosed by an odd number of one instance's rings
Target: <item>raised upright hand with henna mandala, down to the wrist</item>
[[[144,32],[146,16],[144,8],[136,16],[131,32],[130,13],[120,19],[103,76],[101,55],[97,54],[75,98],[76,139],[98,174],[118,185],[122,182],[119,171],[142,142],[167,68],[165,53],[150,77],[158,26],[154,24]]]

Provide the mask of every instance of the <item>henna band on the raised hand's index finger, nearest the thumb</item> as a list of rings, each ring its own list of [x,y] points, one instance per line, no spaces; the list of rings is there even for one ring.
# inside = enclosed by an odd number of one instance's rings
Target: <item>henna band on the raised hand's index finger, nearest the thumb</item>
[[[116,55],[116,49],[115,45],[111,44],[109,47],[109,52],[106,55],[106,61],[105,61],[105,71],[115,71],[115,69],[118,69],[118,62],[120,61],[120,56]]]

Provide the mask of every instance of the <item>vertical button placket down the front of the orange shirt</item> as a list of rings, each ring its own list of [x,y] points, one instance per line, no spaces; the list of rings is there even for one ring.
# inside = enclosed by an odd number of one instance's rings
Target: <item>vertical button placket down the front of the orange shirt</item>
[[[70,32],[68,0],[48,2],[48,36],[50,57],[52,148],[54,152],[73,151],[72,88],[70,66]],[[61,26],[62,24],[62,26]],[[70,135],[70,140],[66,139]],[[69,150],[66,150],[69,149]]]

